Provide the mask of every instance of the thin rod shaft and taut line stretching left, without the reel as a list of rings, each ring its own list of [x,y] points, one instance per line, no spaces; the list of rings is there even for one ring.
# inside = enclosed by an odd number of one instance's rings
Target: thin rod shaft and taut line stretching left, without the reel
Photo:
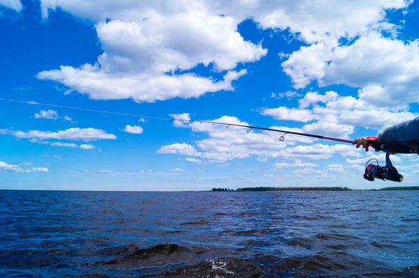
[[[261,127],[252,126],[252,125],[239,125],[239,124],[235,124],[235,123],[220,123],[220,122],[215,122],[215,121],[182,120],[182,119],[177,119],[177,118],[160,118],[160,117],[154,117],[154,116],[127,114],[127,113],[121,113],[121,112],[96,110],[96,109],[89,109],[89,108],[82,108],[82,107],[71,107],[71,106],[65,106],[65,105],[51,105],[51,104],[47,104],[47,103],[34,102],[34,101],[12,100],[12,99],[7,99],[7,98],[0,98],[0,100],[9,101],[9,102],[26,103],[28,105],[42,105],[42,106],[48,106],[48,107],[59,107],[59,108],[75,109],[75,110],[82,110],[82,111],[91,111],[91,112],[98,112],[98,113],[105,113],[105,114],[115,114],[115,115],[121,115],[121,116],[133,116],[133,117],[138,117],[138,118],[151,118],[151,119],[154,119],[154,120],[163,120],[163,121],[181,121],[181,122],[185,122],[185,123],[211,123],[212,125],[225,125],[227,129],[230,126],[235,126],[235,127],[239,127],[239,128],[247,128],[247,133],[251,132],[251,130],[265,130],[265,131],[284,133],[283,135],[281,135],[281,137],[279,137],[279,141],[284,141],[286,134],[294,134],[294,135],[300,135],[300,136],[304,136],[304,137],[313,137],[313,138],[317,138],[317,139],[339,141],[339,142],[351,143],[351,144],[353,143],[352,140],[347,140],[347,139],[327,137],[327,136],[316,135],[316,134],[308,134],[308,133],[303,133],[303,132],[293,132],[293,131],[289,131],[289,130],[276,130],[276,129],[273,129],[273,128],[261,128]]]

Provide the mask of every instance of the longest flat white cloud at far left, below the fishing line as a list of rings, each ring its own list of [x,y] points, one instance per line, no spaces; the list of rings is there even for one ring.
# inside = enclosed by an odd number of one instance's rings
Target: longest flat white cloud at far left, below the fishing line
[[[104,130],[96,128],[68,128],[67,130],[59,130],[57,132],[29,130],[28,132],[22,131],[8,131],[8,134],[17,138],[27,139],[65,139],[77,141],[94,141],[103,139],[117,139],[114,134],[108,134]]]

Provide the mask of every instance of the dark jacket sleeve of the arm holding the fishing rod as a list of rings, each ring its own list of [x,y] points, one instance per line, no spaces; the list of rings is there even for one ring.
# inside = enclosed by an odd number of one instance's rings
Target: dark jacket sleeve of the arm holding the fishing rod
[[[419,117],[386,128],[378,135],[378,143],[385,146],[405,146],[418,149]]]

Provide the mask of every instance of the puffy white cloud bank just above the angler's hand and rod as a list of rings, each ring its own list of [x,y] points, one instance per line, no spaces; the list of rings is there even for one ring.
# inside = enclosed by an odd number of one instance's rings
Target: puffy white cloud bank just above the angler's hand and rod
[[[278,107],[259,109],[260,114],[280,119],[298,119],[307,122],[300,132],[324,134],[331,137],[348,139],[355,127],[382,130],[386,126],[416,118],[419,114],[404,110],[404,107],[379,107],[352,96],[341,96],[335,91],[324,94],[308,92],[299,100],[297,108]],[[311,109],[308,109],[308,108]],[[302,117],[302,115],[305,116]]]

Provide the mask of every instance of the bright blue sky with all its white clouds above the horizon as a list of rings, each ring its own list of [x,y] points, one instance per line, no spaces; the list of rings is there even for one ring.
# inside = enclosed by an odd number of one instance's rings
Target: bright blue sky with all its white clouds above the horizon
[[[344,139],[418,116],[413,1],[0,0],[0,98]],[[289,3],[288,3],[289,2]],[[351,144],[0,101],[0,189],[416,185]]]

